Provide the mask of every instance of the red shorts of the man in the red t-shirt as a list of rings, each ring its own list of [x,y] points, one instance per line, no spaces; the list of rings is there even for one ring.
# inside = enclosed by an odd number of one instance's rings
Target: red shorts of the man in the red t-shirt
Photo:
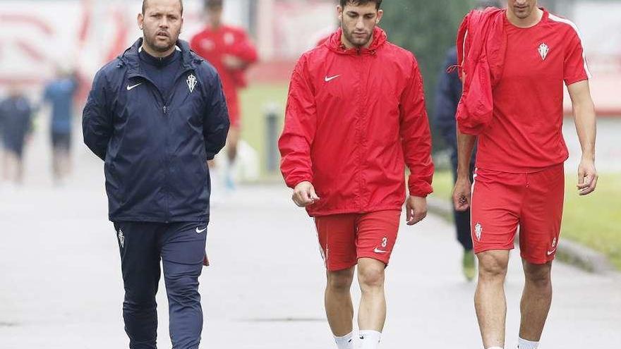
[[[564,197],[563,164],[535,173],[476,169],[470,211],[474,252],[512,250],[519,226],[521,257],[533,264],[550,262]]]

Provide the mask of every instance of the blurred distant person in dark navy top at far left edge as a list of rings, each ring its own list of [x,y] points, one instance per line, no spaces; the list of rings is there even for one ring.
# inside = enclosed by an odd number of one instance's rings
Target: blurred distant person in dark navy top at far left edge
[[[23,149],[32,133],[32,106],[16,84],[8,88],[8,97],[0,102],[0,130],[4,145],[3,178],[23,184]]]

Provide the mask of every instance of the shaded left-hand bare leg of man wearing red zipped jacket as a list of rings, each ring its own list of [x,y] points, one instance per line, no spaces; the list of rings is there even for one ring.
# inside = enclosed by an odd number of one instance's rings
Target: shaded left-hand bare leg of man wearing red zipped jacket
[[[325,288],[325,313],[334,336],[342,337],[354,329],[354,305],[351,302],[351,282],[354,267],[327,271]]]

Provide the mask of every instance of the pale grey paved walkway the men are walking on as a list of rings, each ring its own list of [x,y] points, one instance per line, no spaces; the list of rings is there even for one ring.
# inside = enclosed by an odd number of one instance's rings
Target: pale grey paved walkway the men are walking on
[[[0,187],[0,348],[126,348],[102,164],[78,148],[79,166],[65,188],[50,188],[41,139],[30,149],[25,188]],[[212,266],[200,278],[203,348],[333,348],[315,231],[289,202],[289,190],[242,187],[212,212]],[[481,348],[474,284],[462,279],[460,259],[442,219],[402,228],[387,270],[382,348]],[[507,348],[517,341],[522,280],[514,252]],[[621,278],[559,263],[554,286],[542,348],[621,348]],[[159,342],[170,348],[163,291],[162,285]]]

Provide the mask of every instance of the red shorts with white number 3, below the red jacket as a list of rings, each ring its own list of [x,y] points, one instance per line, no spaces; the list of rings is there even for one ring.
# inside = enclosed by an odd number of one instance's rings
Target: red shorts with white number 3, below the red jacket
[[[401,211],[396,210],[315,217],[325,267],[330,271],[348,269],[359,258],[388,264],[400,217]]]

